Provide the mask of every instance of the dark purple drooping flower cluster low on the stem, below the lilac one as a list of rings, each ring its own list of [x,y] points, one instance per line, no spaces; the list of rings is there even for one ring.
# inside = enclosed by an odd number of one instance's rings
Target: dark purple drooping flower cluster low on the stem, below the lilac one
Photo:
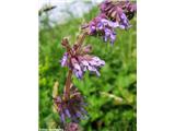
[[[79,122],[80,119],[85,118],[88,115],[85,110],[86,104],[84,103],[84,97],[73,85],[70,87],[69,99],[57,96],[54,98],[54,103],[57,107],[57,111],[60,115],[62,123],[66,123],[66,118],[70,118],[73,122]]]

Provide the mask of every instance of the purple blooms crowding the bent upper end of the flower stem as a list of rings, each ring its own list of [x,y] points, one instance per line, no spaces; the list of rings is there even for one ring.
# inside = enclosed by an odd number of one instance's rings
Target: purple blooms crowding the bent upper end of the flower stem
[[[136,13],[136,3],[106,0],[100,8],[101,13],[88,25],[83,25],[82,28],[86,29],[89,35],[103,36],[105,41],[110,39],[110,44],[114,45],[116,39],[115,28],[127,29],[131,26],[129,20]]]

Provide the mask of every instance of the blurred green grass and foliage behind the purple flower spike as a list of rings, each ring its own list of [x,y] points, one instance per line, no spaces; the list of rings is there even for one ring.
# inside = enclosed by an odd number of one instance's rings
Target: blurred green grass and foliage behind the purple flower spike
[[[59,60],[65,49],[60,41],[69,36],[71,44],[80,33],[80,25],[98,13],[93,8],[81,19],[50,27],[45,19],[39,28],[39,129],[60,127],[59,115],[52,110],[52,87],[59,82],[63,91],[67,68]],[[89,74],[82,81],[73,76],[77,87],[86,96],[90,117],[81,121],[84,131],[136,131],[137,129],[137,23],[131,20],[128,31],[117,29],[117,40],[112,47],[102,38],[88,37],[84,44],[93,46],[93,55],[105,60],[101,76]]]

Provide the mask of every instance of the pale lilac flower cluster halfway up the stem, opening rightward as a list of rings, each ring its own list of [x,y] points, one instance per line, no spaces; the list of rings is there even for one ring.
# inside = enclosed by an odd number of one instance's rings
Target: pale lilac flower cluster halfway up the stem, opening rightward
[[[63,45],[66,39],[62,40]],[[67,45],[68,46],[68,45]],[[98,57],[91,56],[91,46],[84,46],[77,50],[77,46],[71,48],[69,52],[66,52],[60,60],[62,67],[69,67],[78,79],[82,79],[86,70],[92,73],[96,73],[100,76],[98,69],[105,64],[105,61],[101,60]]]

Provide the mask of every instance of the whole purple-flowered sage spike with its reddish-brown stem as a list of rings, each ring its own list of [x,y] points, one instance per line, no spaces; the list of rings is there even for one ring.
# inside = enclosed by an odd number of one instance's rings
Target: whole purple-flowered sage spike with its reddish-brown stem
[[[92,46],[85,45],[84,39],[89,36],[101,37],[104,41],[109,41],[113,46],[117,37],[116,28],[125,31],[130,28],[131,25],[129,21],[136,14],[137,8],[136,2],[128,0],[105,0],[100,4],[100,10],[101,12],[96,17],[81,25],[81,34],[73,46],[69,44],[69,39],[66,37],[61,41],[66,52],[60,60],[60,66],[67,67],[69,71],[63,94],[62,96],[56,96],[54,104],[65,126],[68,124],[66,123],[67,118],[70,119],[72,126],[75,127],[75,124],[88,115],[85,109],[86,103],[84,102],[83,95],[72,83],[72,75],[82,80],[84,73],[89,71],[100,76],[100,69],[105,66],[104,60],[91,55]],[[73,131],[73,129],[68,127],[66,129]]]

